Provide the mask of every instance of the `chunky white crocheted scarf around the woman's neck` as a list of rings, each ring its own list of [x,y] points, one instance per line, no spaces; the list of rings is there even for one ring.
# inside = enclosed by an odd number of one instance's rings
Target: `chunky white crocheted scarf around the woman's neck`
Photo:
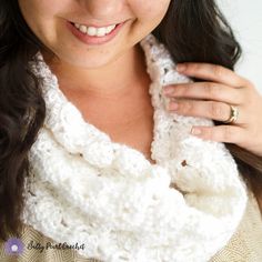
[[[165,110],[162,87],[191,80],[152,34],[140,44],[152,80],[157,164],[84,121],[37,54],[31,66],[43,78],[47,118],[29,154],[23,221],[59,243],[84,243],[81,255],[105,262],[204,262],[236,230],[246,187],[224,144],[190,134],[211,120]]]

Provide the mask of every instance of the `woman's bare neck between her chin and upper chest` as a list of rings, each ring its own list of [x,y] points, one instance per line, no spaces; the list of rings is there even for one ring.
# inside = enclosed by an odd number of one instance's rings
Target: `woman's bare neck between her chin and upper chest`
[[[121,99],[133,89],[148,82],[145,58],[140,44],[103,67],[84,69],[54,61],[43,53],[46,62],[57,75],[59,87],[67,92],[84,94],[85,98]],[[143,84],[144,85],[144,84]]]

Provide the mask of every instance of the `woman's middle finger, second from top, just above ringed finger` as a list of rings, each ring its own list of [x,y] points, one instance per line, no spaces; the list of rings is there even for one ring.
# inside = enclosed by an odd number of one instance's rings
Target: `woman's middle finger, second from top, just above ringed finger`
[[[240,104],[244,101],[242,89],[234,89],[215,82],[195,82],[168,85],[163,93],[173,98],[194,98]]]

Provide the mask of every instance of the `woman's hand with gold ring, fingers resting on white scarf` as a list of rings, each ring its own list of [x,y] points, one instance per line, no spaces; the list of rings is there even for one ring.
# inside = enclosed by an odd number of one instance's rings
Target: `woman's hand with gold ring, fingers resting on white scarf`
[[[230,117],[230,105],[239,110],[235,122],[215,127],[193,127],[192,134],[206,140],[235,143],[262,155],[262,95],[255,87],[221,66],[181,63],[177,70],[208,82],[164,87],[164,94],[172,98],[169,105],[171,112],[224,122]]]

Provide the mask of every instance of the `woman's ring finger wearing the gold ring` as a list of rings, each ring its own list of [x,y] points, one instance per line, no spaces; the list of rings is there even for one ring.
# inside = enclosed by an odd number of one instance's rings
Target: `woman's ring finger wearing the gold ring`
[[[245,115],[244,110],[239,105],[239,118],[232,124],[244,124]],[[200,100],[187,100],[175,99],[171,100],[168,110],[182,115],[206,118],[216,121],[224,122],[229,120],[231,115],[231,108],[229,104],[216,101],[200,101]]]

